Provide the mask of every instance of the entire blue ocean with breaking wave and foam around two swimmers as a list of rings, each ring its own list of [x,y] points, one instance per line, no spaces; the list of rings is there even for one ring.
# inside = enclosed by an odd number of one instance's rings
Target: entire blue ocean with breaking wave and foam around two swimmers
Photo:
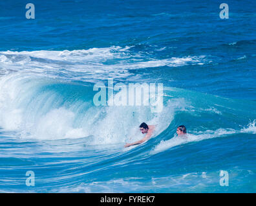
[[[255,1],[27,3],[0,2],[0,192],[255,192]],[[96,106],[108,79],[162,83],[162,111]]]

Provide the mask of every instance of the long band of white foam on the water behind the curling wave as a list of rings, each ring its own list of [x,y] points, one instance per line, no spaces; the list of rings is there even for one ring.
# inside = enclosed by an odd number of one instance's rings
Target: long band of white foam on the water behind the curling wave
[[[128,70],[160,67],[202,65],[204,55],[152,59],[146,52],[131,52],[133,46],[111,46],[89,50],[0,52],[0,64],[6,71],[29,71],[49,77],[73,80],[92,80],[129,77]]]

